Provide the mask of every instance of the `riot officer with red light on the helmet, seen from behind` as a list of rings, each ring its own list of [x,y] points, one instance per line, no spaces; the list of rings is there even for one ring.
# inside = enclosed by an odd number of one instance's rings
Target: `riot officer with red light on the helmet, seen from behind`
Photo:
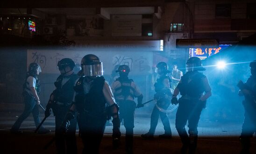
[[[137,97],[137,107],[143,107],[143,95],[135,82],[128,78],[130,68],[127,65],[121,65],[116,72],[119,73],[120,77],[113,82],[111,89],[120,107],[120,122],[122,119],[124,120],[126,152],[131,154],[133,153],[134,112],[136,107],[134,98]]]

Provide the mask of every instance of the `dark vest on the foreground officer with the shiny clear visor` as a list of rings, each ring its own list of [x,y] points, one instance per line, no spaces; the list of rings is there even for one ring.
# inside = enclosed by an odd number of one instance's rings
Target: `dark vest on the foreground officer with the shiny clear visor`
[[[79,113],[85,113],[90,116],[98,116],[106,112],[106,100],[103,94],[105,79],[103,76],[93,79],[90,90],[84,93],[85,77],[80,77],[74,87],[76,91],[75,101]]]

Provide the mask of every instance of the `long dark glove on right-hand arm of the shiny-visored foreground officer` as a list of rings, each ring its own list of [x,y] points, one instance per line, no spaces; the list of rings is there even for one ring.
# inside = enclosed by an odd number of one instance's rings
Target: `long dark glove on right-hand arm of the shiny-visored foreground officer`
[[[113,134],[112,134],[112,144],[113,148],[116,149],[120,145],[120,137],[121,137],[121,132],[120,132],[120,119],[114,118],[112,120],[113,123]]]

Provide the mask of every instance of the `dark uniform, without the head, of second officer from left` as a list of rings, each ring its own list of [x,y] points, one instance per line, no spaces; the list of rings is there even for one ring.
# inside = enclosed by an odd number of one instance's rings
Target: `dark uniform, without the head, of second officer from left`
[[[64,121],[65,115],[69,111],[74,94],[74,83],[78,79],[77,74],[68,76],[60,75],[55,82],[56,90],[54,90],[55,103],[52,106],[55,115],[55,143],[58,154],[77,154],[76,144],[76,127],[77,121],[70,121],[70,127],[66,134],[61,131],[61,124]]]

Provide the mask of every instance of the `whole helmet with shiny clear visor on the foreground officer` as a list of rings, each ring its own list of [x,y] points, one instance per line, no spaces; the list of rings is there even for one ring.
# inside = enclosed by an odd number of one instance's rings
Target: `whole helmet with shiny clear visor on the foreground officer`
[[[87,54],[81,60],[82,72],[85,76],[103,75],[103,65],[99,57],[94,54]]]

